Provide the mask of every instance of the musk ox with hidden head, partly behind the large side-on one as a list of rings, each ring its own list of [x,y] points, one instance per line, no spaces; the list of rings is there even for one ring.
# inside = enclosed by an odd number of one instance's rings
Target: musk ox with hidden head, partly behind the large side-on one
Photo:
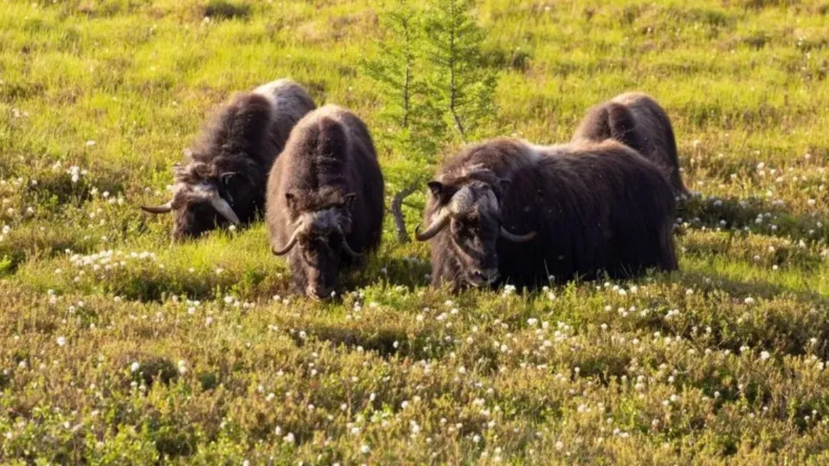
[[[671,119],[656,100],[638,92],[620,94],[590,108],[572,142],[613,139],[667,171],[674,195],[690,196],[682,183]]]

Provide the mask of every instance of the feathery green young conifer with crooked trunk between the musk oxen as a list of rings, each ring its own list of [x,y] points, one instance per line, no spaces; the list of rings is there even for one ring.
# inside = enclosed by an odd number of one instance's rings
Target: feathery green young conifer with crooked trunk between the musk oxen
[[[429,0],[425,8],[391,0],[381,11],[376,56],[362,62],[383,103],[378,142],[403,156],[388,172],[389,184],[402,186],[390,202],[401,243],[409,241],[403,202],[429,178],[440,148],[481,134],[497,112],[497,75],[482,65],[473,8],[472,0]]]

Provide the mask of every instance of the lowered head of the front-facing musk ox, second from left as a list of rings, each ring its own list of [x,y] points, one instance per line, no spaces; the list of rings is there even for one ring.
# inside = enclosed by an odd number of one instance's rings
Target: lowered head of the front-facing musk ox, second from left
[[[353,258],[362,256],[346,240],[351,233],[351,204],[355,199],[354,193],[285,193],[293,231],[288,243],[273,247],[272,252],[283,256],[293,251],[292,267],[302,267],[307,278],[304,291],[311,298],[331,297],[342,254]]]

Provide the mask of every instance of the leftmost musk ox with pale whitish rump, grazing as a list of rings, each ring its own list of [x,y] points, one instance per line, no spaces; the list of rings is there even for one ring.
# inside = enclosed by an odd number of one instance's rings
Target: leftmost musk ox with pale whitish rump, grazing
[[[234,94],[202,128],[187,165],[175,166],[172,199],[141,209],[172,212],[175,240],[226,223],[249,223],[264,210],[274,159],[293,126],[314,108],[305,89],[289,79]]]

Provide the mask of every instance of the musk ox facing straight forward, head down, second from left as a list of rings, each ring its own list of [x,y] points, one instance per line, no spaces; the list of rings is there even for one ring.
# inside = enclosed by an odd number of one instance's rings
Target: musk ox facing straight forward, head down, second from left
[[[374,143],[354,113],[327,105],[297,124],[270,172],[266,214],[295,292],[330,297],[341,268],[376,249],[383,195]]]

